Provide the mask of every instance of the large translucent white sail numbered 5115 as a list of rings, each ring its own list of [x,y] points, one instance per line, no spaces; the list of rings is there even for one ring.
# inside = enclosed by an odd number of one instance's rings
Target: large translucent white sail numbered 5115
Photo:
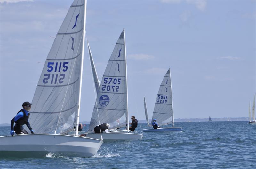
[[[78,112],[83,48],[84,1],[70,6],[46,58],[32,100],[30,124],[36,133],[73,129]]]

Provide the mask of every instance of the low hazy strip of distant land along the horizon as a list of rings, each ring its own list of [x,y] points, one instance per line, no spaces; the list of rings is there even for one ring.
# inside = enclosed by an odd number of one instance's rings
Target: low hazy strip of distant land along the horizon
[[[224,121],[249,121],[248,117],[223,117],[223,118],[212,118],[213,122],[224,122]],[[174,119],[174,122],[208,122],[208,118],[178,118]],[[147,123],[146,120],[138,120],[139,123]],[[80,122],[82,124],[90,124],[88,121],[82,121]],[[0,127],[5,127],[5,126],[11,126],[11,124],[8,123],[3,123],[0,124]]]

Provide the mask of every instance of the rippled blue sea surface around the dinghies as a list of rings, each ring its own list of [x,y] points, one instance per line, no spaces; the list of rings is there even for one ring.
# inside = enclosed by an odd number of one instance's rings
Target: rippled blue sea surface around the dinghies
[[[256,168],[256,125],[180,122],[182,132],[144,133],[142,140],[103,143],[90,158],[0,158],[0,168]],[[146,123],[141,124],[147,128]],[[84,128],[87,130],[87,128]],[[141,132],[140,125],[136,131]],[[10,127],[0,127],[0,135]]]

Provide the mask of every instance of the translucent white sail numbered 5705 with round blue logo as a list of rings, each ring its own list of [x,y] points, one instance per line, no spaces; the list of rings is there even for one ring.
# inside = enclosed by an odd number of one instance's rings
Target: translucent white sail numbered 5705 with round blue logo
[[[92,112],[89,132],[92,132],[99,123],[109,123],[111,128],[125,126],[128,116],[127,104],[125,35],[123,31],[103,74]]]

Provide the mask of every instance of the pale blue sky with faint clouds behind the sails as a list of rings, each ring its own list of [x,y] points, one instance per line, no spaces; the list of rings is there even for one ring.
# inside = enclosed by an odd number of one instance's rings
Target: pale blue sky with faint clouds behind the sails
[[[73,1],[0,0],[0,123],[31,102]],[[152,117],[171,68],[174,118],[247,117],[256,92],[256,1],[87,1],[86,38],[101,81],[125,29],[129,115]],[[87,46],[80,121],[95,103]],[[252,106],[251,106],[252,107]]]

